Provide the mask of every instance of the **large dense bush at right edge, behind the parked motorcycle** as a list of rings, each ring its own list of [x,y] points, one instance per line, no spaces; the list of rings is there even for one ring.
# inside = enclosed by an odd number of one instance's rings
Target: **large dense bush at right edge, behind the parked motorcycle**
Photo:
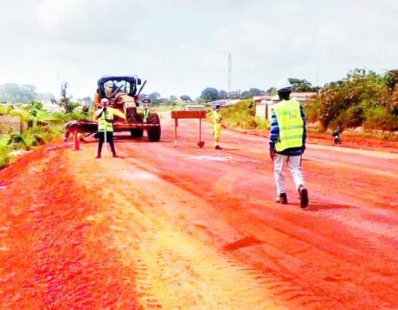
[[[325,85],[306,105],[309,121],[321,127],[398,130],[398,89],[391,75],[378,75],[355,69],[341,81]]]

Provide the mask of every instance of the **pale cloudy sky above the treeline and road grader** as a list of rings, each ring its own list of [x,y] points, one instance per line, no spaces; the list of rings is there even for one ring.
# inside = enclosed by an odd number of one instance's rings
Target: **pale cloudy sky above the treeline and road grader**
[[[0,85],[93,96],[104,75],[199,97],[398,69],[397,0],[2,0]],[[231,62],[229,62],[229,55]],[[229,69],[231,64],[231,69]]]

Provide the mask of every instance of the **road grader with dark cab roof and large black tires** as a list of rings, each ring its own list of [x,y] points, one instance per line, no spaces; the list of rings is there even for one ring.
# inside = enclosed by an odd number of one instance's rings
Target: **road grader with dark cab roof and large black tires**
[[[100,78],[97,82],[98,87],[93,100],[92,121],[79,120],[70,123],[69,126],[67,124],[65,138],[67,139],[69,134],[74,131],[82,134],[96,133],[98,129],[96,113],[101,108],[101,99],[107,98],[109,106],[119,112],[114,113],[114,132],[130,132],[131,137],[142,138],[144,131],[146,131],[148,141],[160,141],[161,126],[159,115],[148,109],[150,100],[144,99],[141,102],[139,99],[145,84],[146,80],[141,83],[141,79],[136,76],[104,76]],[[141,85],[139,90],[137,88],[138,85]]]

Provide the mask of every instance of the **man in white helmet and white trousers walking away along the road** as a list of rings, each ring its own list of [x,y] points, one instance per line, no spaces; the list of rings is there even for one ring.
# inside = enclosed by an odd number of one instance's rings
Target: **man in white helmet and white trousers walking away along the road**
[[[300,199],[300,207],[308,206],[308,190],[305,187],[301,171],[301,155],[305,150],[305,115],[301,104],[290,99],[292,85],[288,79],[277,84],[279,99],[271,106],[270,156],[274,162],[276,183],[276,202],[288,203],[286,195],[284,167],[287,165],[293,176]]]

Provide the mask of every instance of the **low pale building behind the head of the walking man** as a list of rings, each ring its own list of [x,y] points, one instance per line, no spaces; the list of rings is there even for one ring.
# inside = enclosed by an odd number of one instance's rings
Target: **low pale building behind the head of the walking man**
[[[301,104],[308,102],[310,97],[316,96],[316,92],[292,92],[290,97],[296,99]],[[275,96],[254,96],[253,101],[256,104],[256,116],[271,119],[271,106],[279,102],[278,95]]]

